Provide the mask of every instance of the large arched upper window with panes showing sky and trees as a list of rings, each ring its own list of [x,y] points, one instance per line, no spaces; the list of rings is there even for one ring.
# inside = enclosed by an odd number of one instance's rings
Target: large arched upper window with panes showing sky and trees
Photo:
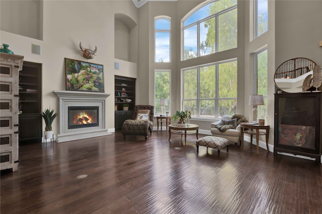
[[[237,47],[237,0],[214,0],[182,21],[183,60]]]

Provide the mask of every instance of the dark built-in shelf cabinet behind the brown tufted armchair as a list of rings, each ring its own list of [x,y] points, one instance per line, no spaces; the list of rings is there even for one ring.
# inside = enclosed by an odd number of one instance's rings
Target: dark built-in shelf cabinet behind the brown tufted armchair
[[[115,131],[122,130],[125,120],[133,119],[135,105],[135,78],[115,76]],[[126,99],[131,99],[127,102]],[[123,111],[123,104],[128,104],[128,111]]]

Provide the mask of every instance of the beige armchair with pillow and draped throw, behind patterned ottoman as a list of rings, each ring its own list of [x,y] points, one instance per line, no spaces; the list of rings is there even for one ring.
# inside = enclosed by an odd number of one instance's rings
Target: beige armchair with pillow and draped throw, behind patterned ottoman
[[[235,120],[233,120],[235,119]],[[240,143],[240,123],[248,122],[243,115],[224,115],[222,116],[222,120],[211,123],[210,132],[213,136],[221,137],[227,139],[229,142],[233,142],[235,144]],[[219,130],[218,128],[223,125],[229,125],[235,123],[232,129]]]

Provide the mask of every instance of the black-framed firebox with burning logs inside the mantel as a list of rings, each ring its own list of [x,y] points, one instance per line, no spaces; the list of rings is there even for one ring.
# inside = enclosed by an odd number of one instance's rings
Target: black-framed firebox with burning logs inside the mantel
[[[68,106],[68,129],[99,126],[99,106]]]

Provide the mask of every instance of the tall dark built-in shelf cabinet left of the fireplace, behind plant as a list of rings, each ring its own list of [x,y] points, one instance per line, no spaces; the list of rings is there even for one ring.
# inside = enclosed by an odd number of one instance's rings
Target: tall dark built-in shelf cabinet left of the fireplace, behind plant
[[[19,142],[41,142],[41,64],[24,62],[19,72]]]

